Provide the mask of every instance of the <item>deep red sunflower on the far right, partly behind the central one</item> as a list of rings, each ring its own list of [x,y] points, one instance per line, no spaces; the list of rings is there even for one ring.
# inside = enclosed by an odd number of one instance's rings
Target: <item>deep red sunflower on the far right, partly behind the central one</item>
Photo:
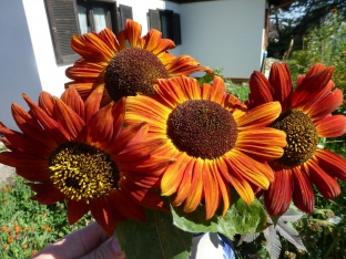
[[[284,131],[284,155],[271,163],[275,180],[264,200],[269,215],[284,214],[293,199],[301,210],[311,214],[315,206],[312,184],[327,198],[340,193],[337,178],[346,180],[346,159],[318,147],[318,137],[337,137],[346,132],[344,115],[330,113],[343,102],[343,93],[330,81],[334,68],[315,64],[299,75],[293,91],[287,64],[274,63],[267,80],[254,72],[250,79],[248,106],[256,108],[278,101],[283,111],[272,127]]]

